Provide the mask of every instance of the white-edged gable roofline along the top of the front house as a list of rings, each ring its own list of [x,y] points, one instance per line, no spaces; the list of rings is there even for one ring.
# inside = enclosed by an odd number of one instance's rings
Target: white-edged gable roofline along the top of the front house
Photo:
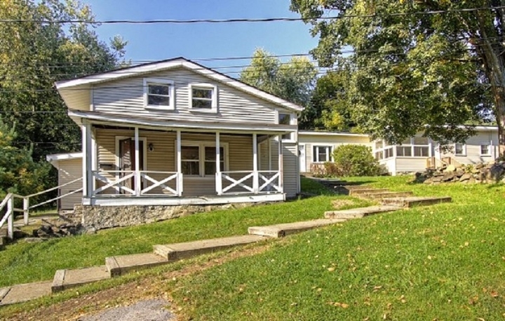
[[[198,63],[194,63],[193,61],[183,57],[167,60],[159,60],[154,63],[145,63],[133,67],[120,68],[117,70],[112,70],[110,72],[102,72],[100,74],[90,74],[88,76],[79,77],[76,79],[58,81],[55,83],[55,85],[56,89],[58,90],[72,89],[73,87],[76,86],[86,86],[86,85],[91,86],[93,84],[100,84],[103,82],[114,81],[117,79],[123,79],[127,77],[140,76],[142,74],[148,74],[151,72],[159,72],[161,70],[170,70],[177,67],[183,67],[185,69],[192,70],[210,79],[220,81],[224,84],[227,84],[228,86],[244,91],[245,93],[250,93],[253,96],[269,100],[271,103],[275,103],[276,105],[280,105],[289,110],[293,110],[295,112],[301,112],[302,110],[304,110],[304,107],[300,105],[290,103],[288,100],[279,98],[278,96],[272,95],[271,93],[267,93],[266,91],[262,91],[261,89],[257,89],[255,86],[245,84],[240,80],[234,79],[233,77],[229,77],[225,74],[212,70]]]

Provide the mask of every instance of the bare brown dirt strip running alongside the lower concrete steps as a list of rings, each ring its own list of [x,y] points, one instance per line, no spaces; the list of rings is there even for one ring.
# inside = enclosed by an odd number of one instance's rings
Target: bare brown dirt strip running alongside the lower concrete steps
[[[269,244],[264,244],[261,246],[255,246],[250,248],[237,248],[234,251],[223,253],[217,258],[212,258],[209,261],[197,263],[194,265],[184,266],[181,270],[171,271],[164,273],[163,275],[147,276],[140,280],[135,280],[134,282],[126,283],[114,287],[112,289],[105,289],[102,291],[97,291],[93,294],[86,294],[74,299],[69,299],[62,303],[56,303],[52,306],[37,308],[36,310],[29,310],[26,312],[18,313],[9,317],[8,320],[12,321],[26,321],[26,320],[40,320],[40,321],[55,321],[55,320],[128,320],[123,319],[123,313],[121,310],[127,306],[133,306],[141,301],[156,301],[165,302],[167,304],[161,304],[158,308],[154,308],[153,305],[149,303],[141,304],[145,313],[155,313],[158,311],[160,313],[165,313],[166,319],[130,319],[133,320],[177,320],[177,306],[172,303],[170,297],[170,286],[169,282],[177,280],[180,277],[187,277],[194,273],[200,273],[203,270],[212,268],[214,266],[220,266],[223,263],[235,260],[236,258],[241,258],[245,256],[253,256],[260,254],[269,249]],[[169,305],[170,310],[166,310],[166,306]],[[109,310],[112,310],[112,314]],[[128,311],[128,310],[126,310]],[[130,309],[131,311],[131,309]],[[94,315],[104,313],[104,319],[92,318]],[[110,315],[116,315],[116,318],[107,318]],[[121,315],[120,319],[117,315]],[[135,315],[134,315],[135,316]]]

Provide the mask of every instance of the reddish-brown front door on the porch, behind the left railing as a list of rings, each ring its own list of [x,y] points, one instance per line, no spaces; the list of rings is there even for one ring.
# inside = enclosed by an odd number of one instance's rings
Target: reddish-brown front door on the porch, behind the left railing
[[[144,170],[144,142],[139,140],[139,169]],[[123,178],[128,175],[130,171],[135,171],[135,140],[132,138],[126,138],[119,140],[119,170],[122,171],[119,174],[119,178]],[[126,172],[125,172],[126,171]],[[142,184],[142,182],[141,182]],[[135,178],[132,177],[123,182],[123,186],[135,190]],[[141,187],[142,188],[142,185]],[[121,190],[121,193],[124,193]]]

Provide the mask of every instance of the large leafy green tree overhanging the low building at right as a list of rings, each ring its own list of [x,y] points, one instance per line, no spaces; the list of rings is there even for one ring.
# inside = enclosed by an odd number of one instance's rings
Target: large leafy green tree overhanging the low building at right
[[[312,53],[332,66],[353,49],[349,105],[358,130],[399,143],[422,131],[462,141],[492,111],[504,143],[505,56],[501,1],[292,0],[320,37]],[[464,8],[486,7],[480,11]],[[420,14],[426,11],[444,11]],[[448,12],[445,12],[448,11]],[[323,15],[339,18],[320,20]],[[489,86],[492,95],[489,94]],[[491,97],[492,96],[492,97]]]

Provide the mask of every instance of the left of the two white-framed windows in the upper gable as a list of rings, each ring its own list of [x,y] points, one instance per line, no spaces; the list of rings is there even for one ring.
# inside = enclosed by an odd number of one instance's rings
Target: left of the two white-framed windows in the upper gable
[[[144,107],[175,109],[174,83],[168,79],[144,78]]]

